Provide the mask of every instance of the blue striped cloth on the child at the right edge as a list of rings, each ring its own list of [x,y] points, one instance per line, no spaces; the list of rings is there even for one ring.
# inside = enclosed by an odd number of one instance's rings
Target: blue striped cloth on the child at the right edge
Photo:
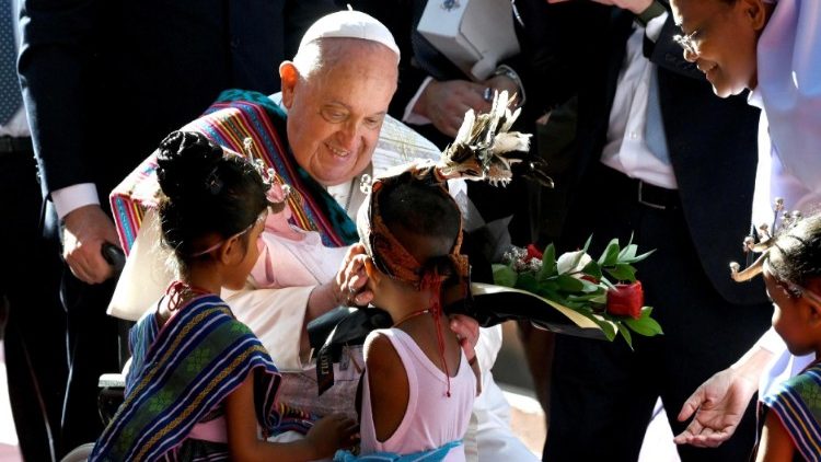
[[[783,382],[762,401],[778,416],[797,452],[821,461],[821,363]]]

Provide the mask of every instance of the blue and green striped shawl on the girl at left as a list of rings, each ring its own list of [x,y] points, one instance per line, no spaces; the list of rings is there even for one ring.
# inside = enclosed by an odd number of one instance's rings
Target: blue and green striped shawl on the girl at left
[[[96,442],[91,461],[194,460],[227,444],[189,439],[195,425],[221,418],[222,403],[254,373],[263,435],[279,424],[280,376],[256,336],[217,296],[193,299],[161,328],[154,312],[130,334],[126,399]]]

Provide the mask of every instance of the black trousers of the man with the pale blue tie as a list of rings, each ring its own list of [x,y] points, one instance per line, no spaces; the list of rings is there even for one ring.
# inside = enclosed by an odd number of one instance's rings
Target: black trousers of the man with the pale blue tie
[[[654,307],[664,335],[633,335],[635,350],[621,337],[608,343],[556,336],[543,459],[633,462],[657,397],[678,435],[686,426],[675,419],[684,400],[755,343],[770,325],[772,308],[731,304],[714,289],[674,192],[656,195],[666,201],[664,210],[648,207],[638,203],[635,181],[598,163],[582,184],[560,251],[581,247],[592,234],[591,256],[598,258],[610,239],[624,244],[631,233],[640,252],[656,249],[635,266],[645,303]],[[727,226],[720,219],[705,226]],[[744,231],[741,223],[739,243]],[[739,252],[740,245],[728,249],[727,261]],[[683,446],[679,453],[683,461],[745,461],[754,437],[751,405],[729,441],[717,449]]]

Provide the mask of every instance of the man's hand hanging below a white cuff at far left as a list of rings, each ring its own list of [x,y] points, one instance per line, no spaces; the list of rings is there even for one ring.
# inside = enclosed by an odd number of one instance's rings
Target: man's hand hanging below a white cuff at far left
[[[101,253],[106,242],[119,246],[114,222],[99,205],[80,207],[63,218],[62,257],[83,282],[101,284],[114,276]]]

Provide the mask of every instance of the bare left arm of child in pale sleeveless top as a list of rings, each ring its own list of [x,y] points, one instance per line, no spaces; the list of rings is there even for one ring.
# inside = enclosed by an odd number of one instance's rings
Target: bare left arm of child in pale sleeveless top
[[[410,389],[402,358],[384,335],[375,335],[365,345],[373,426],[377,439],[385,441],[405,417]]]

